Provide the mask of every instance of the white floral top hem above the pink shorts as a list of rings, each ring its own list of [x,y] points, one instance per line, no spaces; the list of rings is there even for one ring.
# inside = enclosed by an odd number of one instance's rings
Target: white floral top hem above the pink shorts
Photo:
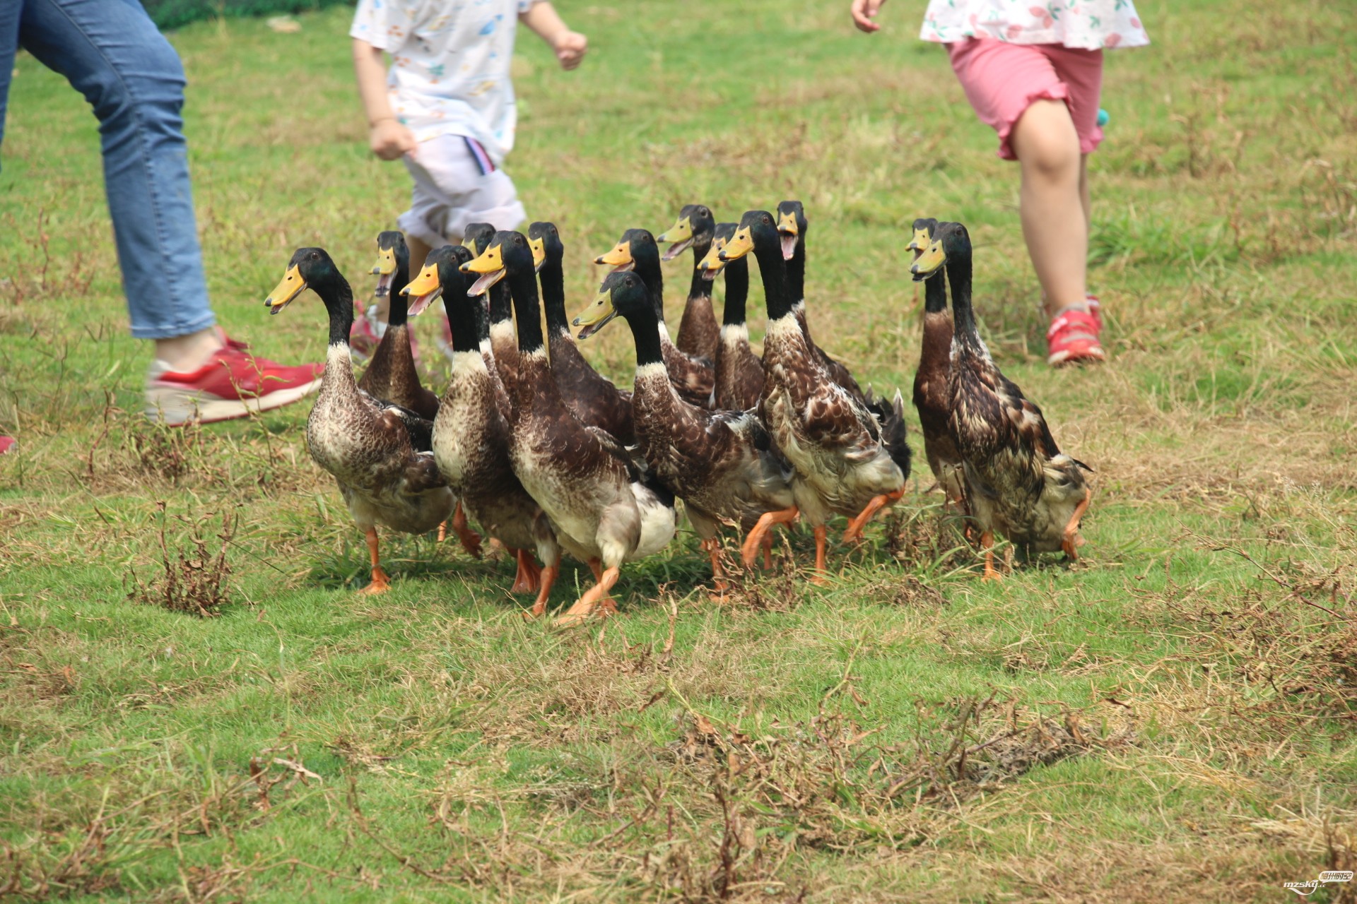
[[[1130,0],[928,0],[919,37],[936,43],[995,38],[1084,50],[1149,43]]]

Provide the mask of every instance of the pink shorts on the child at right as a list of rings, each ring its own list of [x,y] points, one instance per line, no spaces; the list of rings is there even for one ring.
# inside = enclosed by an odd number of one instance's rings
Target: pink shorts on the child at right
[[[1034,100],[1065,102],[1080,153],[1092,153],[1102,141],[1102,50],[966,38],[949,43],[947,56],[976,115],[999,133],[999,156],[1004,160],[1018,159],[1008,136]]]

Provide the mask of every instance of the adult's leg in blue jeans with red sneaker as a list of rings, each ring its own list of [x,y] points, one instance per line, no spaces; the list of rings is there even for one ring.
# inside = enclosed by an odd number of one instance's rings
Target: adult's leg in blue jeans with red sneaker
[[[174,47],[137,0],[5,0],[4,5],[7,14],[18,14],[18,43],[64,75],[99,119],[132,335],[156,343],[148,401],[152,390],[160,392],[161,401],[175,408],[163,412],[171,423],[195,413],[205,420],[242,416],[250,407],[246,398],[293,401],[293,392],[277,393],[301,388],[297,381],[313,384],[313,367],[285,369],[251,358],[239,343],[223,344],[214,329],[189,184],[183,66]],[[0,41],[3,27],[0,20]],[[9,72],[5,66],[0,79],[7,83]],[[225,404],[209,412],[199,401]],[[201,411],[183,409],[190,404]]]

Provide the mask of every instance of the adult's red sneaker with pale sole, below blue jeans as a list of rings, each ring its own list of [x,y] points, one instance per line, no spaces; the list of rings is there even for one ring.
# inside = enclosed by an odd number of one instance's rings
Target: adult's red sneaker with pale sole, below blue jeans
[[[251,355],[243,342],[228,339],[206,365],[191,373],[151,362],[147,373],[147,417],[171,427],[210,424],[281,408],[320,388],[323,365],[288,367]]]

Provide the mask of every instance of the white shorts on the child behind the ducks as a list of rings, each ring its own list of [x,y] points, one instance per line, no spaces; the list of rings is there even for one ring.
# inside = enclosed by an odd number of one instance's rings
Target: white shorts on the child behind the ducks
[[[430,248],[460,241],[472,222],[513,229],[528,218],[513,179],[475,138],[438,136],[421,141],[414,159],[406,156],[404,161],[415,184],[410,210],[400,214],[398,224]]]

